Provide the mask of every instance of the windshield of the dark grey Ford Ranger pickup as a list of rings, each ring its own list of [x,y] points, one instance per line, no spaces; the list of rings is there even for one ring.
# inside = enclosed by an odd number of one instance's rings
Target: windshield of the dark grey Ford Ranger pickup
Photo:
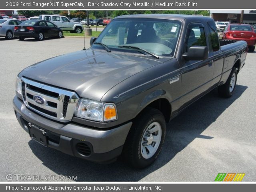
[[[105,44],[110,50],[133,46],[158,56],[173,56],[180,28],[181,21],[178,20],[116,19],[106,26],[95,42]]]

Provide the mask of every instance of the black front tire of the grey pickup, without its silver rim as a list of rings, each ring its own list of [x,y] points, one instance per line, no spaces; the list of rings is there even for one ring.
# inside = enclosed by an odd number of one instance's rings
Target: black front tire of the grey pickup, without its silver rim
[[[157,133],[161,135],[160,141],[158,142],[159,143],[158,148],[156,147],[156,151],[152,153],[154,155],[151,156],[150,158],[144,158],[145,153],[142,154],[141,146],[142,146],[142,142],[148,141],[148,140],[147,141],[144,140],[144,134],[146,131],[148,131],[148,127],[154,123],[160,125],[161,134],[160,134],[160,131],[159,132],[157,131]],[[146,133],[149,133],[149,132],[146,132]],[[155,133],[156,132],[154,132],[154,134]],[[144,110],[141,114],[138,115],[138,117],[136,117],[130,129],[130,132],[128,133],[128,136],[126,138],[126,142],[123,148],[123,154],[122,154],[124,160],[134,168],[145,168],[149,166],[156,160],[156,158],[160,154],[160,151],[164,143],[165,135],[166,135],[166,122],[163,114],[157,109],[146,108],[146,110]],[[156,145],[157,143],[152,142],[152,144]],[[148,150],[146,151],[146,155],[147,155],[147,152],[149,151]]]

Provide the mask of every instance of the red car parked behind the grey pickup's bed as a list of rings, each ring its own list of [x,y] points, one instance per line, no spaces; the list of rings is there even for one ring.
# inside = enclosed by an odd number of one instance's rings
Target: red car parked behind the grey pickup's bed
[[[247,24],[228,24],[220,34],[220,38],[232,40],[244,40],[249,51],[253,52],[256,44],[256,33],[252,26]]]

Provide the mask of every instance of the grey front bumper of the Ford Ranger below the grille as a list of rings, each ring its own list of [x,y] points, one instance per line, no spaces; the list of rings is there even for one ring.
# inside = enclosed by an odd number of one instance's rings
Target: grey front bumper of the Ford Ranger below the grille
[[[132,122],[128,122],[110,130],[95,130],[72,122],[62,124],[44,118],[26,108],[17,96],[13,105],[16,118],[26,132],[29,133],[28,127],[32,124],[46,132],[48,147],[94,162],[112,162],[119,156],[132,126]],[[86,145],[90,154],[82,154],[78,144]]]

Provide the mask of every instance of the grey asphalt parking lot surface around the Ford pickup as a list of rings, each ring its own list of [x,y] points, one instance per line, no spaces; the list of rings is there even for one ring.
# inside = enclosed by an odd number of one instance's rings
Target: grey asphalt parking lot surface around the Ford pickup
[[[245,173],[243,181],[256,181],[256,52],[247,54],[232,98],[219,98],[214,90],[184,110],[168,124],[158,160],[144,170],[134,170],[120,160],[95,164],[31,140],[12,108],[18,72],[83,46],[83,38],[42,42],[0,38],[0,181],[7,181],[6,174],[21,174],[78,176],[84,182],[210,182],[218,173]]]

